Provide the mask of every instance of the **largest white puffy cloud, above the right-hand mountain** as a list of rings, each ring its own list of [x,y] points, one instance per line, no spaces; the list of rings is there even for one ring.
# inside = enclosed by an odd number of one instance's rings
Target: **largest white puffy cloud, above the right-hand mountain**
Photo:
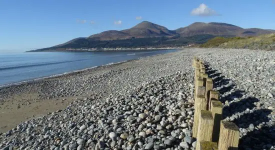
[[[215,10],[209,8],[206,4],[201,3],[197,8],[194,8],[191,11],[192,15],[198,16],[211,16],[211,15],[219,15]]]

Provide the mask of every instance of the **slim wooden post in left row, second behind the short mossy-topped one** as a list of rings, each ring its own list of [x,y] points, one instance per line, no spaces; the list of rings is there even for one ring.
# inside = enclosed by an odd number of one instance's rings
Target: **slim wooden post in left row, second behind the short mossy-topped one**
[[[203,93],[197,93],[194,103],[193,137],[197,137],[200,110],[206,110],[207,101]]]

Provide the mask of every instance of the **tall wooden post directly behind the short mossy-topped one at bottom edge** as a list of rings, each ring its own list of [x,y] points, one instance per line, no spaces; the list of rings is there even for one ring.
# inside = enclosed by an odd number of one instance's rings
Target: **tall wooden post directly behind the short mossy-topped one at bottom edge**
[[[213,116],[211,111],[200,110],[199,121],[198,121],[198,130],[196,137],[196,148],[200,149],[199,142],[201,140],[211,141],[212,132],[213,132]]]

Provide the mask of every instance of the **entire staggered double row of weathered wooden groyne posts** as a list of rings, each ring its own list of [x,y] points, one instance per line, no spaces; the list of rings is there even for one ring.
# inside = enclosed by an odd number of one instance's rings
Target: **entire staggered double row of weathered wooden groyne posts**
[[[196,149],[237,149],[239,130],[233,122],[222,120],[219,92],[213,90],[213,80],[205,72],[202,60],[194,57],[194,121],[193,137]]]

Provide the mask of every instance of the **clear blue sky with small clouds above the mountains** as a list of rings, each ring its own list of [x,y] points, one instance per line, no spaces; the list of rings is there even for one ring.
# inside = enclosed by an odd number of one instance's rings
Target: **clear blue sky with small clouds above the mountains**
[[[197,21],[275,29],[275,0],[0,0],[0,52],[53,46],[143,20],[169,29]]]

